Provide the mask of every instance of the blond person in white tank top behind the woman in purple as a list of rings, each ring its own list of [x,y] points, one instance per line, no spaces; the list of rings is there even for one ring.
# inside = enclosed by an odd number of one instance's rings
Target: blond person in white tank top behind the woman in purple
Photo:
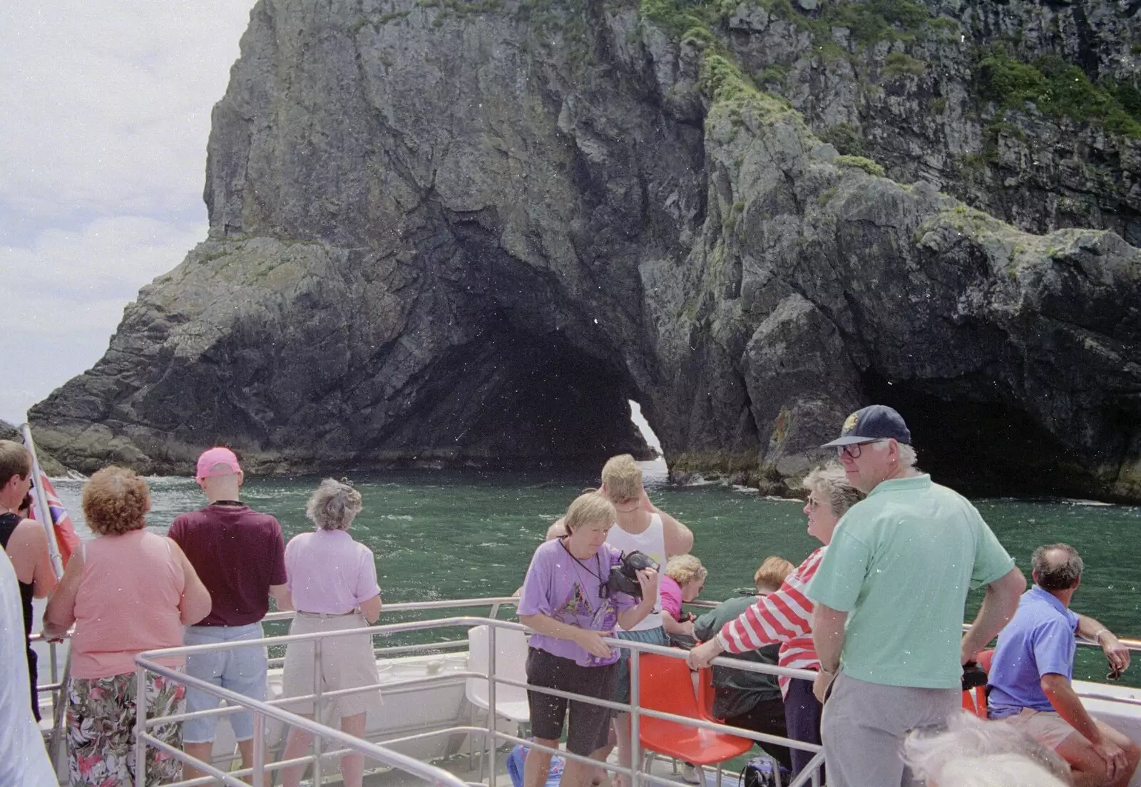
[[[646,488],[642,486],[642,472],[630,454],[610,457],[602,466],[602,487],[599,489],[618,513],[615,526],[606,538],[614,549],[622,552],[645,552],[652,560],[664,567],[665,561],[675,554],[686,554],[694,546],[694,534],[677,519],[659,511],[649,502]],[[559,519],[547,530],[547,538],[565,535],[563,520]],[[622,640],[637,640],[653,644],[669,646],[670,638],[662,627],[662,591],[658,589],[657,603],[654,611],[630,631],[617,631],[615,636]],[[622,651],[618,660],[618,685],[614,698],[616,703],[630,701],[630,665],[629,650]],[[630,714],[623,713],[614,720],[614,732],[618,745],[618,764],[630,766]],[[618,776],[618,787],[628,787],[628,779]]]

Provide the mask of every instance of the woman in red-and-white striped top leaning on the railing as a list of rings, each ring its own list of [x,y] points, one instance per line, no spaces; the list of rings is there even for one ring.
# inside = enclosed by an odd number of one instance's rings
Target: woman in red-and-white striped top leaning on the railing
[[[848,484],[844,471],[835,463],[812,470],[804,477],[802,486],[808,492],[808,502],[804,503],[808,535],[824,546],[808,555],[775,593],[758,597],[756,603],[737,619],[725,624],[717,636],[690,650],[690,666],[706,667],[721,654],[742,654],[779,642],[779,666],[820,670],[812,644],[812,602],[804,595],[804,587],[816,574],[840,518],[864,498],[864,493]],[[788,737],[819,745],[823,708],[812,696],[812,682],[788,678],[780,678],[779,681]],[[810,752],[792,749],[793,777],[811,758]]]

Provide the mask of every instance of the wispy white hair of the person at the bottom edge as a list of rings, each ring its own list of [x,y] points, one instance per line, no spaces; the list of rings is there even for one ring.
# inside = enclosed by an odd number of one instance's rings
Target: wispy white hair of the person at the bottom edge
[[[947,778],[945,768],[953,761],[964,758],[994,757],[995,755],[1013,755],[1017,758],[1029,761],[1028,765],[1041,769],[1042,776],[1037,779],[1026,779],[1013,781],[1006,779],[1002,781],[961,781],[945,780]],[[1044,780],[1046,776],[1053,774],[1061,780],[1061,784],[1069,784],[1069,765],[1054,752],[1050,752],[1037,744],[1029,736],[1023,735],[1003,721],[985,722],[970,713],[958,713],[947,720],[947,729],[942,732],[915,731],[907,736],[904,741],[904,762],[912,769],[916,779],[928,779],[937,782],[939,787],[957,787],[957,785],[980,785],[982,787],[1001,787],[1002,785],[1053,785],[1054,781]],[[979,770],[981,776],[988,768]],[[1017,769],[1015,769],[1017,770]],[[1037,771],[1023,769],[1033,774]],[[955,769],[955,773],[960,770]]]

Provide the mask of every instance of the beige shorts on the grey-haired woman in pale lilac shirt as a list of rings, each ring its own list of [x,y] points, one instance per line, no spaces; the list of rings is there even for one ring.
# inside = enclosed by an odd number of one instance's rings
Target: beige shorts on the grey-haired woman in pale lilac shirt
[[[298,612],[290,626],[290,634],[314,634],[316,632],[345,631],[364,628],[369,622],[364,615],[311,615]],[[290,642],[285,649],[285,667],[282,671],[282,696],[302,697],[316,692],[314,684],[313,642]],[[372,654],[372,636],[353,634],[350,636],[326,636],[321,641],[321,691],[339,691],[363,685],[377,685],[380,678],[377,672],[377,658]],[[357,691],[350,695],[322,700],[322,707],[335,706],[341,716],[355,716],[380,705],[380,689]],[[311,715],[314,700],[285,703],[286,711]]]

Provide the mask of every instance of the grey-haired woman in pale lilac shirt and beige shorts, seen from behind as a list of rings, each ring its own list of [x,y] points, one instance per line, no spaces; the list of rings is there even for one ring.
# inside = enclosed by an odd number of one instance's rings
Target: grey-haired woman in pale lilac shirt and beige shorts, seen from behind
[[[285,545],[285,571],[297,615],[291,634],[364,628],[380,617],[380,585],[372,550],[348,534],[353,520],[363,508],[361,493],[348,484],[326,478],[306,505],[306,516],[316,525],[315,533],[302,533]],[[316,693],[314,667],[316,649],[313,642],[291,642],[285,650],[282,695],[301,697]],[[321,690],[338,691],[378,685],[377,658],[370,634],[330,636],[321,644]],[[340,711],[341,729],[364,737],[365,717],[380,700],[380,689],[358,691],[324,701]],[[291,703],[289,709],[311,719],[314,701]],[[284,760],[300,757],[313,739],[304,730],[290,730]],[[282,772],[285,787],[297,787],[305,765]],[[364,779],[364,756],[341,756],[341,778],[346,787],[361,787]]]

